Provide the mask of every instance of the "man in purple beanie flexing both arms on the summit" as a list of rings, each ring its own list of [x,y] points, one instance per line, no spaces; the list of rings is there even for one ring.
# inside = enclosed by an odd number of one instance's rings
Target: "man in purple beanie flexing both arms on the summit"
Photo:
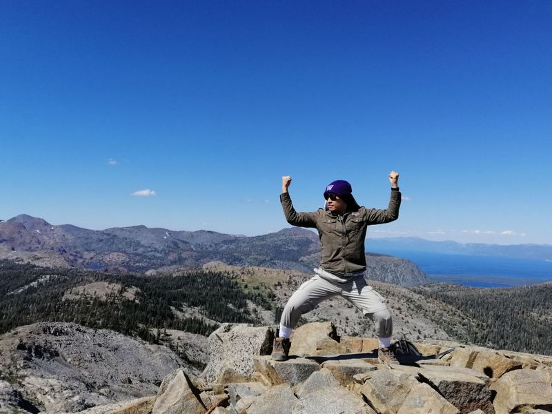
[[[295,211],[288,192],[291,177],[282,177],[280,201],[286,220],[293,226],[318,230],[321,257],[320,267],[314,269],[315,275],[299,286],[282,312],[272,352],[272,358],[276,361],[288,359],[290,335],[301,315],[312,311],[324,299],[339,295],[359,308],[364,316],[372,319],[379,337],[379,359],[385,363],[397,362],[391,348],[391,313],[382,295],[364,279],[364,239],[367,227],[389,223],[399,217],[399,174],[391,171],[388,177],[391,182],[391,198],[385,210],[359,206],[353,197],[351,184],[337,180],[328,184],[324,190],[325,208],[312,213]]]

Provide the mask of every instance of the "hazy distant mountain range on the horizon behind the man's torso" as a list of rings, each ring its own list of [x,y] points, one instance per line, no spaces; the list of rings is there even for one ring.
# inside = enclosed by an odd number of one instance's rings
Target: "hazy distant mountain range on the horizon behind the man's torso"
[[[311,273],[319,264],[318,236],[303,228],[245,237],[213,231],[173,231],[132,226],[89,230],[18,215],[0,222],[0,259],[41,266],[79,267],[113,273],[194,268],[220,261]],[[382,282],[412,286],[428,282],[406,259],[370,255],[368,274]]]

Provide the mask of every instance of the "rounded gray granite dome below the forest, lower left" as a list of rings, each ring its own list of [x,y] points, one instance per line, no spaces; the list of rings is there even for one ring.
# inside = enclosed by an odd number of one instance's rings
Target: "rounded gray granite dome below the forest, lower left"
[[[19,379],[12,386],[25,400],[52,413],[155,395],[180,366],[187,367],[164,346],[77,324],[41,322],[0,337],[0,371]]]

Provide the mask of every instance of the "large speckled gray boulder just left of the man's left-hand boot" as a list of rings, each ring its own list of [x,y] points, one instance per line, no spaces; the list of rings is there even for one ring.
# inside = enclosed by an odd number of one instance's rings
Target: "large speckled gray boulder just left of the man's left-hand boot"
[[[253,374],[253,356],[272,351],[273,329],[248,324],[222,324],[209,336],[210,361],[201,378],[215,382],[225,369],[245,378]]]

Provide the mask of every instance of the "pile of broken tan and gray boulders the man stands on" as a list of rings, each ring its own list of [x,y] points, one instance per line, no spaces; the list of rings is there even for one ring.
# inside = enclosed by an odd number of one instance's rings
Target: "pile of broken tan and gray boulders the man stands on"
[[[426,341],[416,344],[423,356],[400,355],[400,364],[382,364],[377,359],[377,339],[337,337],[333,324],[318,322],[297,328],[291,337],[290,358],[275,362],[270,357],[274,329],[223,324],[209,337],[210,362],[203,373],[196,375],[179,367],[164,377],[156,393],[148,395],[144,390],[144,395],[134,400],[121,398],[79,412],[552,413],[549,356]],[[55,349],[41,352],[55,353]],[[56,355],[44,357],[55,359]],[[0,381],[0,407],[19,413],[39,412],[27,411],[29,406],[21,403],[25,390],[15,392],[10,387]],[[59,395],[63,395],[62,388],[60,384]],[[59,395],[43,395],[43,399],[55,400]],[[77,400],[79,393],[72,398]]]

